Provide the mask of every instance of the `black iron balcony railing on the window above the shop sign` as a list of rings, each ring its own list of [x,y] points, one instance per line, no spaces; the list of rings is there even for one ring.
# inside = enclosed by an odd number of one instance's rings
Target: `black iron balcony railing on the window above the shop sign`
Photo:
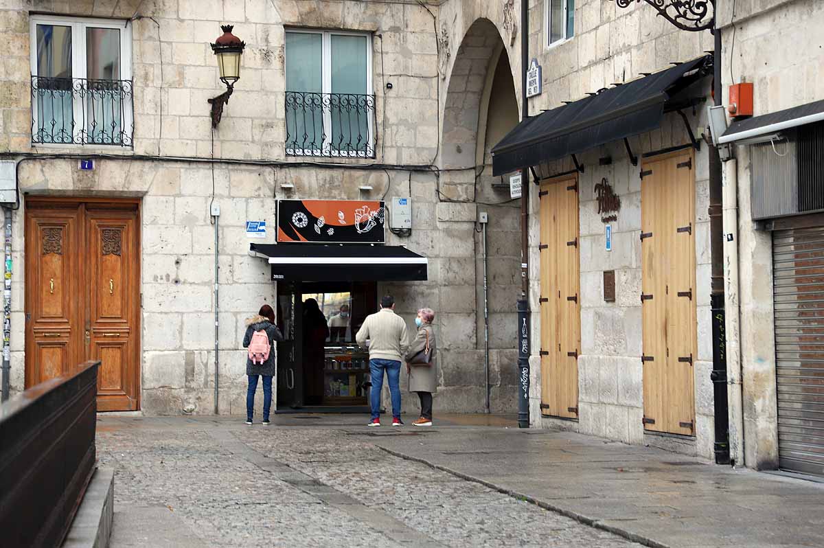
[[[286,155],[375,157],[375,96],[286,92]]]

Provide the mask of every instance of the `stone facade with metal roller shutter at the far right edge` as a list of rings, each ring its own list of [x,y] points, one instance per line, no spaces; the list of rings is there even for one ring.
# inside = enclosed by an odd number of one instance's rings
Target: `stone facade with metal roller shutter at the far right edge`
[[[737,272],[733,277],[725,269],[725,285],[737,297],[732,302],[728,297],[728,325],[732,311],[740,318],[737,334],[728,330],[733,342],[728,348],[738,354],[728,354],[728,367],[737,368],[741,387],[734,399],[730,396],[733,454],[747,466],[816,475],[824,473],[824,459],[816,388],[822,355],[816,345],[820,293],[815,266],[820,263],[815,258],[821,252],[814,242],[824,223],[822,206],[808,203],[809,196],[822,195],[821,189],[811,194],[804,185],[822,164],[820,156],[804,151],[822,146],[815,133],[821,127],[817,101],[824,99],[822,22],[821,2],[737,2],[734,10],[723,2],[718,12],[723,104],[731,105],[733,84],[751,84],[753,98],[751,119],[730,119],[728,133],[740,124],[756,129],[749,139],[733,133],[722,146],[726,184],[737,187],[737,195],[724,198],[724,208],[737,211],[737,219],[724,227],[724,232],[737,232],[737,243],[724,244],[725,263]],[[770,128],[765,115],[783,127]],[[796,171],[796,165],[810,170]],[[792,181],[790,190],[784,192],[781,181]],[[781,208],[787,197],[789,208]],[[774,208],[765,210],[764,204]]]

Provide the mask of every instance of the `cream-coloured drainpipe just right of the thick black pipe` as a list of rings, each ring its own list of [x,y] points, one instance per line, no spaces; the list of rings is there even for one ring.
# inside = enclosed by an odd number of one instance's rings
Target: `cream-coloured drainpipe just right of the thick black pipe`
[[[744,415],[741,374],[741,305],[738,281],[738,162],[723,166],[723,261],[726,309],[727,385],[729,401],[730,464],[744,466]]]

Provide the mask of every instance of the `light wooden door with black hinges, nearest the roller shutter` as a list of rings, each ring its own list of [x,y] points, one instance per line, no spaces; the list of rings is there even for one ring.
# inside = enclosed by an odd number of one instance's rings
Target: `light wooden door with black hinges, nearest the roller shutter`
[[[641,168],[644,428],[695,435],[695,178],[692,152]]]

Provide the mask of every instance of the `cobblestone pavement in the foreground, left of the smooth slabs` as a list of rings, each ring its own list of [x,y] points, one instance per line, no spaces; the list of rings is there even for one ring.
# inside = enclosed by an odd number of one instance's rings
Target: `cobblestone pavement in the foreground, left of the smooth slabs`
[[[113,548],[639,546],[394,457],[365,427],[124,424],[97,437],[101,466],[115,468]],[[129,516],[142,509],[156,513],[138,527]]]

